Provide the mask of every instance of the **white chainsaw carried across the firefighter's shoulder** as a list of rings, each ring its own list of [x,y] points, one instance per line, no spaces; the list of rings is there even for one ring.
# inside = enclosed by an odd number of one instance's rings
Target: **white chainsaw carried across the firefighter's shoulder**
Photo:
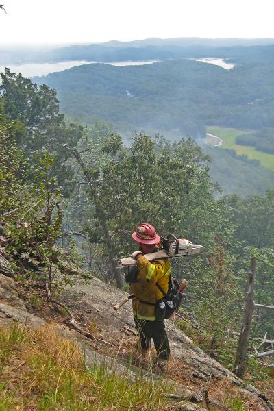
[[[160,258],[173,258],[182,256],[192,256],[203,251],[203,246],[193,244],[186,238],[177,238],[174,234],[169,234],[167,238],[161,237],[159,251],[145,254],[149,261],[159,260]],[[125,257],[119,260],[119,268],[136,265],[135,258]]]

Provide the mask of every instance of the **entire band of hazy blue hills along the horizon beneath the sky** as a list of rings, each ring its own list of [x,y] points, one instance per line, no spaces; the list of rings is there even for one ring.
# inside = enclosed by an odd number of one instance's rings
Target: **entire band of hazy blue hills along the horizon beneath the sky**
[[[272,38],[147,38],[131,42],[112,40],[89,45],[53,47],[20,45],[0,47],[0,64],[88,60],[111,62],[180,57],[237,57],[255,46],[274,45]],[[245,49],[243,51],[242,49]],[[251,50],[250,50],[251,51]],[[253,51],[251,51],[253,53]]]

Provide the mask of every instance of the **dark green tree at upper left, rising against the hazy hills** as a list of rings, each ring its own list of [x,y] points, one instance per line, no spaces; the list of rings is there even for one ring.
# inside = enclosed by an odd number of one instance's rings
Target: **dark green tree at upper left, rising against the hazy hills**
[[[56,92],[45,84],[38,86],[21,74],[11,73],[5,68],[1,73],[1,101],[5,114],[12,121],[23,125],[21,133],[14,134],[18,147],[24,149],[34,159],[37,153],[48,151],[54,154],[55,161],[51,175],[58,178],[65,195],[71,192],[72,173],[66,160],[68,152],[64,144],[71,147],[84,135],[84,127],[64,122],[64,114],[59,112]]]

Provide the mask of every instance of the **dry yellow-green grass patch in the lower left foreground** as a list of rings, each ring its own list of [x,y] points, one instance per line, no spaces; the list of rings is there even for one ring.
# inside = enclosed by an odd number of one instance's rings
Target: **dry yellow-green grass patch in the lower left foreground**
[[[0,411],[163,410],[162,381],[116,375],[115,364],[87,369],[82,351],[52,326],[0,331]]]

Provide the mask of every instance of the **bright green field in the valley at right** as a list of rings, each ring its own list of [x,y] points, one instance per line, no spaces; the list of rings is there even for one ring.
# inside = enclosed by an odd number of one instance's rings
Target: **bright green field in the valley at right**
[[[253,147],[250,146],[243,146],[238,145],[235,142],[235,138],[240,134],[250,133],[245,130],[237,130],[237,129],[227,129],[227,128],[220,128],[220,127],[208,127],[206,129],[207,133],[214,134],[214,136],[218,136],[223,140],[223,144],[220,146],[223,149],[234,149],[238,155],[247,155],[248,158],[260,160],[262,166],[266,167],[266,169],[270,169],[274,171],[274,155],[273,154],[266,154],[262,153],[261,151],[257,151]],[[210,145],[216,144],[213,138],[206,138],[206,143]]]

